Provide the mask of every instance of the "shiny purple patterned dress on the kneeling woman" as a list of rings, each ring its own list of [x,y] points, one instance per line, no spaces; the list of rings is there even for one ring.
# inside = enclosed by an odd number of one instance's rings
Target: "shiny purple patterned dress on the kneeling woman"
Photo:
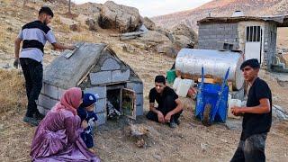
[[[31,146],[32,161],[100,161],[80,138],[80,117],[51,110],[40,122]]]

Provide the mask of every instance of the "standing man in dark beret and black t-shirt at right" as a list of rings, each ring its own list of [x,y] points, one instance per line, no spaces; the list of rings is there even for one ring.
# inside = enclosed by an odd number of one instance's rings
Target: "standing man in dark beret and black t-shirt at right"
[[[234,115],[244,115],[238,148],[231,162],[266,161],[265,144],[272,122],[272,94],[266,82],[258,77],[259,62],[248,59],[241,65],[248,83],[247,107],[232,107]]]

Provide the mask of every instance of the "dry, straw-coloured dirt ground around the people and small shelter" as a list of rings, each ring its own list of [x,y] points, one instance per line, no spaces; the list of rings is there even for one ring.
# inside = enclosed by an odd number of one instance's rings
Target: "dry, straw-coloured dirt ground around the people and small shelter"
[[[2,1],[3,4],[7,0]],[[11,11],[5,13],[4,9]],[[11,5],[2,6],[0,13],[0,64],[13,62],[13,40],[20,24],[32,20],[34,15],[16,14]],[[25,12],[24,12],[25,13]],[[23,17],[24,16],[24,17]],[[14,18],[16,17],[16,19]],[[17,18],[20,17],[20,18]],[[9,20],[9,22],[5,22]],[[25,20],[25,21],[23,21]],[[57,20],[57,19],[56,19]],[[57,21],[56,21],[57,22]],[[4,25],[3,25],[4,24]],[[52,24],[60,41],[71,43],[75,40],[105,42],[114,49],[119,58],[132,67],[144,83],[145,112],[148,111],[148,91],[154,86],[154,76],[166,74],[172,67],[175,58],[160,55],[151,50],[136,47],[134,40],[120,41],[109,37],[112,31],[67,32],[56,23]],[[12,31],[8,28],[11,27]],[[287,47],[288,41],[281,43]],[[6,43],[10,42],[10,43]],[[128,47],[123,50],[123,46]],[[57,57],[48,48],[44,56],[44,65]],[[273,102],[282,106],[288,112],[288,86],[278,85],[275,77],[261,71],[273,91]],[[2,78],[1,78],[2,79]],[[2,87],[4,88],[4,87]],[[4,94],[0,94],[4,95]],[[25,97],[23,94],[22,97]],[[15,98],[17,100],[17,98]],[[184,113],[181,124],[176,129],[170,129],[153,121],[139,117],[137,121],[121,118],[120,121],[108,121],[95,130],[94,151],[103,161],[229,161],[238,145],[241,131],[240,120],[229,120],[226,124],[213,124],[205,127],[193,119],[193,101],[184,98]],[[0,161],[31,161],[29,156],[31,139],[35,127],[23,123],[25,107],[0,113]],[[127,136],[125,130],[129,123],[143,124],[149,130],[148,143],[145,148],[138,148],[135,141]],[[231,127],[232,126],[232,127]],[[288,161],[288,121],[274,121],[266,140],[267,161]]]

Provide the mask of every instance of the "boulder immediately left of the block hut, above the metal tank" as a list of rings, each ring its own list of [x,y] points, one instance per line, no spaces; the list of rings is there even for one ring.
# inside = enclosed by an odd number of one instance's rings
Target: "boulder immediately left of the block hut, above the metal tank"
[[[185,24],[178,24],[174,28],[172,28],[172,33],[174,35],[184,35],[189,40],[192,40],[193,42],[197,42],[197,34],[195,31],[193,31],[192,28],[188,27]]]

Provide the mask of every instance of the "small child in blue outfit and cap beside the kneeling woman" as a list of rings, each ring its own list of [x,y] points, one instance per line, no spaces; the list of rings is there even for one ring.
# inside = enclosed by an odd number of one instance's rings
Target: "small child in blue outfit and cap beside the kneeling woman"
[[[97,94],[84,94],[83,103],[77,109],[77,114],[81,121],[87,121],[88,127],[81,133],[81,138],[84,140],[87,148],[94,147],[94,139],[92,133],[92,123],[97,121],[96,113],[94,112],[94,104],[98,98]]]

